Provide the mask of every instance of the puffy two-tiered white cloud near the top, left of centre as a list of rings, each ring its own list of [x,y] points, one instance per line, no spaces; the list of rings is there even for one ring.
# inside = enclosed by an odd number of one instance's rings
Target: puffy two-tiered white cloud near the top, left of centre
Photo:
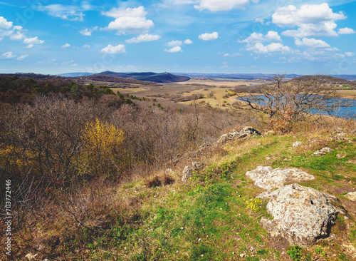
[[[113,8],[102,13],[105,16],[114,17],[115,21],[110,22],[108,30],[116,30],[117,34],[143,34],[155,26],[153,21],[147,20],[144,6],[137,8]]]

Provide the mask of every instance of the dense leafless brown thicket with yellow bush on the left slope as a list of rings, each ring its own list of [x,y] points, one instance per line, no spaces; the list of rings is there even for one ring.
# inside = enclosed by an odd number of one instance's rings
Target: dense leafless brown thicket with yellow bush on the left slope
[[[105,87],[16,77],[6,83],[1,97],[19,98],[0,103],[0,183],[13,185],[16,229],[50,190],[70,195],[89,181],[120,182],[169,167],[236,122],[198,105],[152,106],[132,96],[135,104]]]

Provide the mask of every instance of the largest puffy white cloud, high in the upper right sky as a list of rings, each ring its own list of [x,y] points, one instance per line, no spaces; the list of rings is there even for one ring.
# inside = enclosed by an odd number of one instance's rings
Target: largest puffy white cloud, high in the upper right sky
[[[272,22],[282,28],[298,27],[297,30],[283,31],[282,35],[292,37],[337,36],[335,21],[346,19],[342,12],[334,13],[327,3],[304,4],[297,9],[290,5],[278,8],[272,15]]]

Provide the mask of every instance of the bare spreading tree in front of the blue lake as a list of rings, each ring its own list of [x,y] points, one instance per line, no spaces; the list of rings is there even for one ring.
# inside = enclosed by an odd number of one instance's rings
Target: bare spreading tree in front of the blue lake
[[[318,78],[288,82],[283,79],[284,75],[276,75],[273,84],[257,86],[253,94],[239,96],[248,108],[266,113],[271,126],[279,131],[289,131],[294,123],[310,119],[310,113],[330,114],[350,106],[333,86],[320,83]]]

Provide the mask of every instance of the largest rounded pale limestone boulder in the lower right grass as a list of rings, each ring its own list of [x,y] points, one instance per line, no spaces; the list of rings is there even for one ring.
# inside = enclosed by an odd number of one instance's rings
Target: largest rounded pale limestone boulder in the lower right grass
[[[266,191],[257,198],[270,198],[267,211],[274,217],[262,218],[263,227],[272,236],[285,237],[291,245],[308,245],[328,237],[337,213],[342,213],[335,207],[334,196],[299,184]]]

